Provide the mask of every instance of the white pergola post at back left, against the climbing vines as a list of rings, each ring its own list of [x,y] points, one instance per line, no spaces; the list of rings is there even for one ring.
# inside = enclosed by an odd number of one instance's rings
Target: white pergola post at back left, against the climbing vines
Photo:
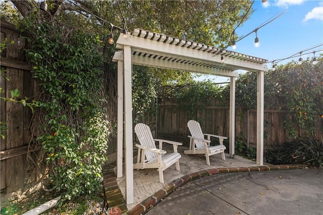
[[[123,113],[123,61],[118,61],[117,178],[123,171]]]

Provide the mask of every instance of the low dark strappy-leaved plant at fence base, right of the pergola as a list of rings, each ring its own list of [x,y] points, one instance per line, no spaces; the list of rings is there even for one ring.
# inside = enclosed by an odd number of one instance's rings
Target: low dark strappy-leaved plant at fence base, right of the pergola
[[[305,164],[323,167],[323,141],[299,138],[285,143],[281,149],[267,150],[265,158],[271,164]]]

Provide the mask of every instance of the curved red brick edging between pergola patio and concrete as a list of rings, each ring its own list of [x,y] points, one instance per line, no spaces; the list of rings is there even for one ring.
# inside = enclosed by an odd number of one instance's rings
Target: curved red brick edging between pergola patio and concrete
[[[158,204],[161,199],[165,198],[166,196],[170,195],[172,192],[174,192],[177,188],[183,186],[189,181],[193,181],[205,176],[214,175],[218,173],[236,173],[236,172],[255,172],[255,171],[270,171],[270,170],[291,170],[291,169],[300,169],[304,168],[306,165],[271,165],[266,164],[264,166],[257,166],[257,167],[229,167],[229,168],[214,168],[214,169],[208,169],[208,170],[202,170],[199,172],[191,173],[188,175],[185,175],[179,179],[176,179],[167,185],[165,185],[163,188],[155,192],[153,195],[149,196],[145,200],[143,200],[141,203],[137,204],[134,208],[131,210],[127,210],[127,206],[125,204],[125,201],[122,198],[121,191],[118,187],[117,180],[115,179],[116,183],[113,183],[113,187],[106,187],[109,186],[111,181],[104,183],[104,190],[105,195],[107,197],[108,203],[109,203],[109,195],[119,193],[121,194],[122,202],[123,204],[119,205],[111,205],[113,207],[118,206],[123,214],[129,214],[129,215],[139,215],[144,214],[148,212],[148,210]],[[110,179],[109,179],[110,180]],[[117,189],[118,191],[111,191],[111,189]],[[110,190],[110,191],[109,191]],[[113,196],[112,196],[113,197]],[[117,201],[118,202],[118,201]],[[121,202],[120,202],[121,203]],[[118,203],[117,203],[118,204]],[[109,204],[110,206],[110,204]],[[113,211],[112,211],[113,212]],[[117,214],[117,213],[110,213],[110,214]]]

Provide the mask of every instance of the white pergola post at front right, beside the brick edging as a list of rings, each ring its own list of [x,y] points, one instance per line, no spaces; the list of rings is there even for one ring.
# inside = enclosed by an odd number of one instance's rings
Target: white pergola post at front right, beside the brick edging
[[[263,82],[264,71],[257,74],[257,165],[263,165]]]

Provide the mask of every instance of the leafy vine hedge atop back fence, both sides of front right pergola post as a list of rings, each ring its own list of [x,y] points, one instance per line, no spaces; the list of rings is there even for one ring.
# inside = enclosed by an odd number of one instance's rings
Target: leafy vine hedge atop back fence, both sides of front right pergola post
[[[289,138],[298,137],[297,127],[304,130],[304,136],[313,136],[316,120],[323,120],[323,58],[317,59],[316,65],[312,65],[311,59],[301,65],[292,61],[264,74],[264,108],[286,108],[292,113],[285,121]],[[255,108],[256,89],[256,73],[240,75],[236,82],[236,105]],[[230,86],[226,86],[222,95],[229,98]]]

